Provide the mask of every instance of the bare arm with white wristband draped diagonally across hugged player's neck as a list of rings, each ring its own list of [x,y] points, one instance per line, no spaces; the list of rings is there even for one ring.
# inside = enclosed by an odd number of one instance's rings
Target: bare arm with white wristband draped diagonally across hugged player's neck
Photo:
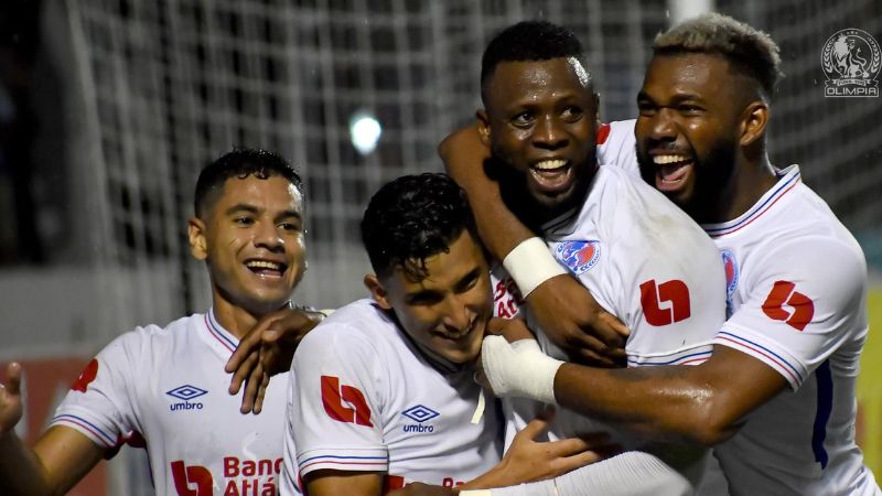
[[[606,366],[620,363],[627,328],[568,276],[545,242],[505,206],[499,184],[484,172],[490,157],[486,129],[467,126],[439,145],[448,174],[469,196],[482,241],[503,260],[537,323],[556,344],[577,359]]]

